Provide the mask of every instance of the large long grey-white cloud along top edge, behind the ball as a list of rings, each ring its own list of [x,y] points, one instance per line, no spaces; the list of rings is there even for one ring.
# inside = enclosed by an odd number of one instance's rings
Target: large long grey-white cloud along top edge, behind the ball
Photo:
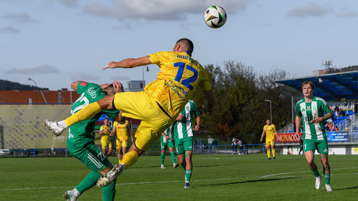
[[[228,14],[245,10],[247,5],[255,0],[222,0],[218,6],[224,8]],[[205,9],[216,5],[214,0],[113,0],[110,8],[100,2],[84,8],[84,13],[113,18],[120,21],[125,19],[148,19],[178,21],[187,18],[187,14],[204,13]]]

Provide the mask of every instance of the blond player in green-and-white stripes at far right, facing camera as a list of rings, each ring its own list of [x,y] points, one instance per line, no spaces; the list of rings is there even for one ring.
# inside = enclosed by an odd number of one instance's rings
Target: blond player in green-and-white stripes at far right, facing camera
[[[313,96],[314,83],[306,81],[301,84],[304,99],[296,103],[296,138],[299,136],[300,122],[303,120],[303,150],[306,156],[308,167],[316,177],[315,188],[321,187],[321,175],[314,162],[314,152],[320,155],[323,165],[323,175],[326,191],[332,191],[330,186],[330,166],[328,163],[328,142],[324,129],[324,121],[333,117],[332,109],[322,99]],[[325,114],[324,114],[325,112]]]

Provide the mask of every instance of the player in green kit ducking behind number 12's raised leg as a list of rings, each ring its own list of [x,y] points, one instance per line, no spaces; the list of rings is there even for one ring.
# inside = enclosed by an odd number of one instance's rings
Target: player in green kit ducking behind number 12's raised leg
[[[95,84],[83,81],[73,82],[71,88],[77,91],[81,96],[73,103],[71,115],[77,113],[84,106],[96,102],[105,97],[105,95],[113,95],[116,92],[123,92],[123,86],[120,82],[114,80],[113,84]],[[121,114],[115,109],[106,109],[102,111],[109,118],[115,119],[117,122],[123,122]],[[103,152],[95,146],[95,137],[92,135],[95,123],[100,118],[102,112],[96,114],[86,121],[79,122],[68,128],[67,148],[69,153],[81,160],[84,165],[92,170],[84,180],[79,183],[73,190],[68,190],[63,195],[67,201],[76,201],[78,197],[89,188],[96,186],[97,180],[111,170],[112,164],[103,154]],[[46,127],[50,127],[48,120],[45,121]],[[102,198],[106,201],[114,200],[116,194],[116,180],[112,181],[108,186],[102,188]]]

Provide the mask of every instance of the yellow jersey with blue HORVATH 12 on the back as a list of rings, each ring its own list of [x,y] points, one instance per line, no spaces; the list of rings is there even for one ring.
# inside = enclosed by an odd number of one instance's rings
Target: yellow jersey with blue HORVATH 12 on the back
[[[195,88],[210,90],[211,84],[203,66],[187,51],[163,51],[147,55],[152,64],[160,68],[158,77],[144,91],[158,102],[172,119],[183,111]]]

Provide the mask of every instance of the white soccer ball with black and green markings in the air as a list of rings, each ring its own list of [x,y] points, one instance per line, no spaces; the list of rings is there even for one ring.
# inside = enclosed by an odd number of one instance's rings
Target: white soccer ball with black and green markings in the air
[[[206,9],[204,13],[204,20],[206,25],[210,28],[220,28],[226,23],[226,12],[223,8],[219,6],[211,6]]]

